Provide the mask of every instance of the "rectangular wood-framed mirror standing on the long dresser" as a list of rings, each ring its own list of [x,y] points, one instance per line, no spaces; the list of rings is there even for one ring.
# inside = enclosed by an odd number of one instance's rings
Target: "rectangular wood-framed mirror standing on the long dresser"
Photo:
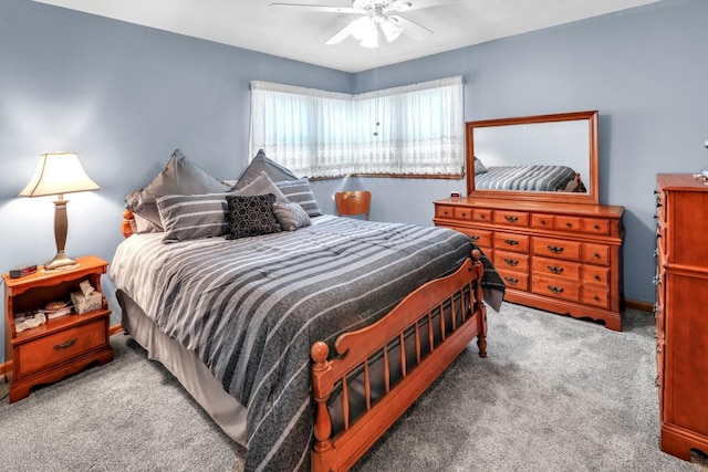
[[[596,111],[466,127],[469,197],[598,203]]]

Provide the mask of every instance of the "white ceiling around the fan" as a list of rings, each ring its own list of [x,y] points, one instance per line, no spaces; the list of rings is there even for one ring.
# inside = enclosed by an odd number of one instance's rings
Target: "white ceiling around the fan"
[[[351,7],[350,0],[34,0],[345,72],[413,60],[659,0],[405,0],[398,13],[434,33],[377,49],[324,42],[357,17],[277,8],[274,1]]]

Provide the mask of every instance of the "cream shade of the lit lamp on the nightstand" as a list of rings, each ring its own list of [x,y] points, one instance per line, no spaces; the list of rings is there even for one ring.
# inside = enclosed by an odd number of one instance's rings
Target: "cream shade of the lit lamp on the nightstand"
[[[34,176],[20,197],[43,197],[101,187],[86,175],[76,153],[48,153],[40,156]]]

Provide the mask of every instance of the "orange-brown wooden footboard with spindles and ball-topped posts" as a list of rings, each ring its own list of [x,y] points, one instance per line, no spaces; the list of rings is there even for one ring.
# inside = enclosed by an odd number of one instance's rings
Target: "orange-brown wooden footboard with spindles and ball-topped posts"
[[[480,255],[472,251],[472,259],[452,275],[423,285],[377,323],[340,336],[333,359],[327,360],[330,349],[325,343],[312,345],[313,471],[348,470],[475,336],[480,356],[486,357],[487,314],[480,284],[485,270]],[[413,343],[404,338],[412,338]],[[405,353],[406,344],[415,346],[413,366],[407,365],[410,355]],[[399,346],[399,355],[389,354],[392,345]],[[376,356],[383,359],[385,384],[378,398],[372,394],[371,366]],[[399,373],[397,382],[389,380],[393,371]],[[365,411],[350,419],[353,379],[363,384]],[[327,408],[331,401],[341,401],[343,412],[343,429],[334,433]]]

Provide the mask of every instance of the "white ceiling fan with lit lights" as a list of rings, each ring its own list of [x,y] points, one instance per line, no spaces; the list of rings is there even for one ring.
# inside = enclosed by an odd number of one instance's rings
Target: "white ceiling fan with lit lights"
[[[387,42],[395,41],[404,32],[404,29],[406,34],[416,40],[421,40],[428,34],[433,34],[429,29],[398,13],[449,2],[450,0],[428,1],[424,7],[416,7],[413,2],[402,0],[352,0],[352,7],[303,3],[271,3],[270,6],[327,13],[356,14],[358,15],[357,19],[330,38],[325,44],[341,43],[351,35],[360,40],[364,48],[378,48],[379,31]]]

